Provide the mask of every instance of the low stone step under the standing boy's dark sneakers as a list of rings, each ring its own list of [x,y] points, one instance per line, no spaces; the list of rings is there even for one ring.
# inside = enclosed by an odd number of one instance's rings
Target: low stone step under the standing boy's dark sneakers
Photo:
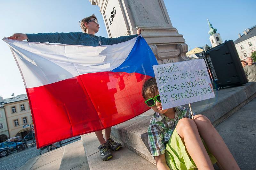
[[[84,144],[90,170],[157,169],[154,164],[151,164],[146,159],[132,152],[123,144],[118,151],[112,152],[113,158],[109,159],[108,161],[102,161],[100,159],[100,153],[98,150],[100,143],[96,135],[94,133],[89,133],[82,135],[81,138]]]

